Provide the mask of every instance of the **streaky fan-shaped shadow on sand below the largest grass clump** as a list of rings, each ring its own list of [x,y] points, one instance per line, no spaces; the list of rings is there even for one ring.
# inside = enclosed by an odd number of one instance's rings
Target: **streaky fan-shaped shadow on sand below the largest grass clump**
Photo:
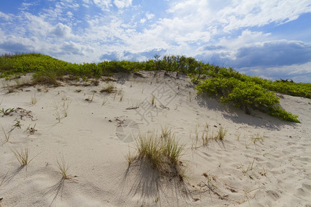
[[[126,169],[120,180],[121,195],[126,200],[136,201],[136,205],[182,205],[191,201],[189,189],[179,177],[166,177],[153,169],[149,162],[137,159]],[[180,203],[182,201],[182,203]]]

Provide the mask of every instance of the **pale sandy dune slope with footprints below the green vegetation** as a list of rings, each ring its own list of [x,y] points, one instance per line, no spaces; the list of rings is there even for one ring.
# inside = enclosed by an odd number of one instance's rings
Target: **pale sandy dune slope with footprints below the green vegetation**
[[[281,99],[299,115],[301,124],[292,124],[196,95],[176,73],[118,76],[111,83],[119,92],[112,94],[100,92],[106,82],[1,88],[0,108],[15,112],[0,117],[10,135],[6,141],[0,133],[0,206],[311,206],[310,99]],[[126,110],[133,106],[140,107]],[[209,135],[227,130],[225,140],[202,146],[207,125]],[[143,161],[129,167],[124,158],[138,132],[161,126],[186,144],[184,181],[162,177]],[[12,150],[26,146],[33,159],[21,167]],[[62,156],[72,179],[58,172]]]

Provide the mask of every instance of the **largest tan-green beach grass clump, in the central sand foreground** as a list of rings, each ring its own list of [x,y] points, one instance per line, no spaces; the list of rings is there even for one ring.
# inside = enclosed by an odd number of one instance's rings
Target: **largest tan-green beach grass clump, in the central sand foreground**
[[[146,159],[151,166],[164,175],[180,175],[180,157],[183,155],[185,145],[179,144],[175,135],[168,130],[165,136],[157,135],[156,132],[139,134],[135,140],[135,150],[138,155],[131,155],[131,158]],[[167,132],[168,132],[167,131]],[[133,161],[132,159],[128,159]]]

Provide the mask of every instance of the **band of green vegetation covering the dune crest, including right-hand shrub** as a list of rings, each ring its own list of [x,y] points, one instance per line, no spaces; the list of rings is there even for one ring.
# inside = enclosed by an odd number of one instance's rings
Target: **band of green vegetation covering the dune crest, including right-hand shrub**
[[[281,108],[275,92],[311,98],[311,83],[294,83],[292,80],[269,81],[259,77],[243,75],[233,68],[220,68],[202,63],[192,57],[156,55],[148,61],[104,61],[101,63],[68,63],[37,53],[0,57],[0,77],[14,78],[29,72],[33,73],[32,84],[44,83],[58,86],[59,81],[77,80],[82,77],[99,79],[115,72],[138,70],[167,70],[183,72],[197,84],[198,92],[204,92],[220,98],[222,103],[232,103],[249,113],[249,109],[261,110],[271,116],[286,121],[299,122]],[[208,77],[208,78],[207,78]],[[107,88],[112,92],[113,88]],[[102,92],[106,92],[103,90]]]

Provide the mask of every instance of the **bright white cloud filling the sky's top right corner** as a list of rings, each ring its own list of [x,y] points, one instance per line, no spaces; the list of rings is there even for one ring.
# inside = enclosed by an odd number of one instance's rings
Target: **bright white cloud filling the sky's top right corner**
[[[269,23],[285,23],[305,12],[311,12],[308,0],[299,3],[290,0],[241,0],[219,10],[216,16],[220,23],[223,23],[224,31],[229,32],[238,28],[265,26]]]

